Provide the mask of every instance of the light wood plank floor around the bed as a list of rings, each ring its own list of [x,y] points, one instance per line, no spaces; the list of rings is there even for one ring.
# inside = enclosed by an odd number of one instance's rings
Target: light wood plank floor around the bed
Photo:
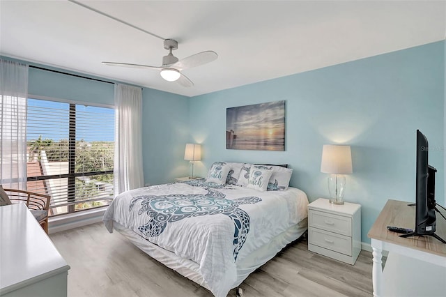
[[[68,297],[213,296],[210,291],[148,257],[121,234],[101,223],[50,235],[71,266]],[[307,241],[291,243],[249,275],[240,287],[246,297],[371,296],[371,252],[354,266],[307,250]],[[234,290],[228,296],[236,296]]]

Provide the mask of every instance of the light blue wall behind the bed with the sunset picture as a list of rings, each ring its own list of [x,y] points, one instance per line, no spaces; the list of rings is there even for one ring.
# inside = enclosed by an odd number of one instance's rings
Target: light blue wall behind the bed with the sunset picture
[[[415,201],[415,131],[443,148],[445,43],[431,43],[190,99],[191,140],[203,144],[197,174],[217,160],[288,163],[291,185],[328,197],[323,144],[352,146],[346,201],[362,205],[362,241],[387,199]],[[266,71],[268,69],[266,68]],[[286,100],[286,151],[226,150],[226,108]],[[444,151],[429,151],[445,204]]]

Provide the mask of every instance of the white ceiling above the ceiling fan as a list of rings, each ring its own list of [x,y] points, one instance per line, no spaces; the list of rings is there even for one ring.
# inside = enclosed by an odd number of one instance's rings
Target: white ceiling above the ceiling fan
[[[185,88],[157,70],[163,41],[64,1],[0,0],[0,54],[197,96],[422,45],[446,36],[446,1],[80,1],[162,38],[178,59],[205,50],[216,61],[184,70]]]

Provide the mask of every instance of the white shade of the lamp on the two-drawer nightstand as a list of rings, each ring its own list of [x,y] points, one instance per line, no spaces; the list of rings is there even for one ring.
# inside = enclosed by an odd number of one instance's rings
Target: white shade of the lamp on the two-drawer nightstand
[[[350,146],[325,144],[322,148],[321,172],[328,174],[351,174]]]

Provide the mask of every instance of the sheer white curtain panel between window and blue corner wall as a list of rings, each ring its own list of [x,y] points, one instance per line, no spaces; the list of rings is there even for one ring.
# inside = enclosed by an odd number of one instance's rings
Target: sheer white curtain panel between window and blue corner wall
[[[144,186],[142,169],[142,90],[115,84],[115,195]]]

